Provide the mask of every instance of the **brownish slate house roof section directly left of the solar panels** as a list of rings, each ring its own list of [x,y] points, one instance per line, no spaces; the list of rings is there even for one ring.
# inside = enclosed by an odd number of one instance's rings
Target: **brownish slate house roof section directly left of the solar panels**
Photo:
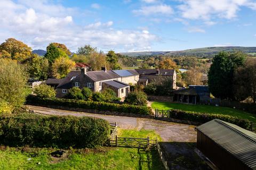
[[[89,71],[86,75],[91,78],[93,81],[103,81],[110,79],[117,79],[120,76],[115,74],[112,71]]]

